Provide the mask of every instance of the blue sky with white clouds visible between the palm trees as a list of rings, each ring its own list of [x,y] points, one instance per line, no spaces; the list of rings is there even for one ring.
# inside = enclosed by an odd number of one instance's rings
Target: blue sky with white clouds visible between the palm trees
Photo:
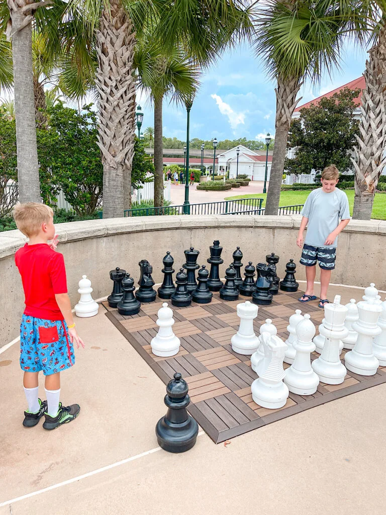
[[[300,105],[340,85],[360,77],[364,71],[367,53],[352,44],[345,49],[341,70],[332,77],[323,77],[313,88],[304,84]],[[190,112],[190,138],[209,140],[217,138],[245,138],[261,140],[266,132],[275,132],[275,84],[268,80],[264,63],[249,47],[240,47],[226,53],[201,77],[201,88]],[[138,95],[144,111],[144,128],[154,125],[153,110],[145,96]],[[164,136],[186,139],[186,110],[182,107],[163,106]]]

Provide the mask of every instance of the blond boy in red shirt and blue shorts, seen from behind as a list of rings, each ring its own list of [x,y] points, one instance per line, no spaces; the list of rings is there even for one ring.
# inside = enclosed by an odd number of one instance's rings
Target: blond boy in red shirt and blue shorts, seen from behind
[[[20,326],[20,366],[28,403],[23,425],[37,425],[44,415],[43,427],[51,430],[79,415],[78,404],[65,407],[59,402],[60,372],[75,363],[74,340],[78,349],[84,345],[67,295],[63,255],[55,251],[54,212],[47,205],[27,202],[17,204],[12,214],[17,229],[29,238],[15,253],[26,305]],[[38,397],[41,370],[47,396],[43,402]]]

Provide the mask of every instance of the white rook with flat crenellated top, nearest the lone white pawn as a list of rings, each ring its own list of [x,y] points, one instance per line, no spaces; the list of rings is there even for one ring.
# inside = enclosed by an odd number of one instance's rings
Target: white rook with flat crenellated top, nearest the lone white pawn
[[[231,338],[232,349],[238,354],[253,354],[260,345],[253,330],[253,320],[257,317],[258,306],[247,300],[237,304],[236,310],[240,318],[240,327]]]

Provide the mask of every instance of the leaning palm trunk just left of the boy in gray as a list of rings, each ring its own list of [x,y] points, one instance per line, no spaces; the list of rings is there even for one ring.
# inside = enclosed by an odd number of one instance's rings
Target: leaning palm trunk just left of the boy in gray
[[[291,125],[292,113],[296,107],[296,95],[300,90],[301,81],[297,77],[284,80],[277,79],[275,145],[273,147],[271,173],[267,192],[266,215],[277,215],[280,200],[280,186],[283,180],[284,160],[286,159],[288,131]]]

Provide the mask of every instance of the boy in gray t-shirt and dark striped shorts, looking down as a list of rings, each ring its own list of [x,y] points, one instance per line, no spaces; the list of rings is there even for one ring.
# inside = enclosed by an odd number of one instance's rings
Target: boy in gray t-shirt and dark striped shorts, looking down
[[[350,221],[347,195],[336,187],[338,181],[338,168],[334,165],[327,166],[322,173],[322,187],[313,190],[304,204],[303,218],[296,239],[296,245],[300,248],[303,246],[300,263],[307,267],[307,289],[299,300],[309,302],[317,299],[313,292],[313,284],[318,262],[321,308],[328,302],[327,288],[331,270],[335,268],[337,237]],[[306,226],[307,233],[304,239]]]

